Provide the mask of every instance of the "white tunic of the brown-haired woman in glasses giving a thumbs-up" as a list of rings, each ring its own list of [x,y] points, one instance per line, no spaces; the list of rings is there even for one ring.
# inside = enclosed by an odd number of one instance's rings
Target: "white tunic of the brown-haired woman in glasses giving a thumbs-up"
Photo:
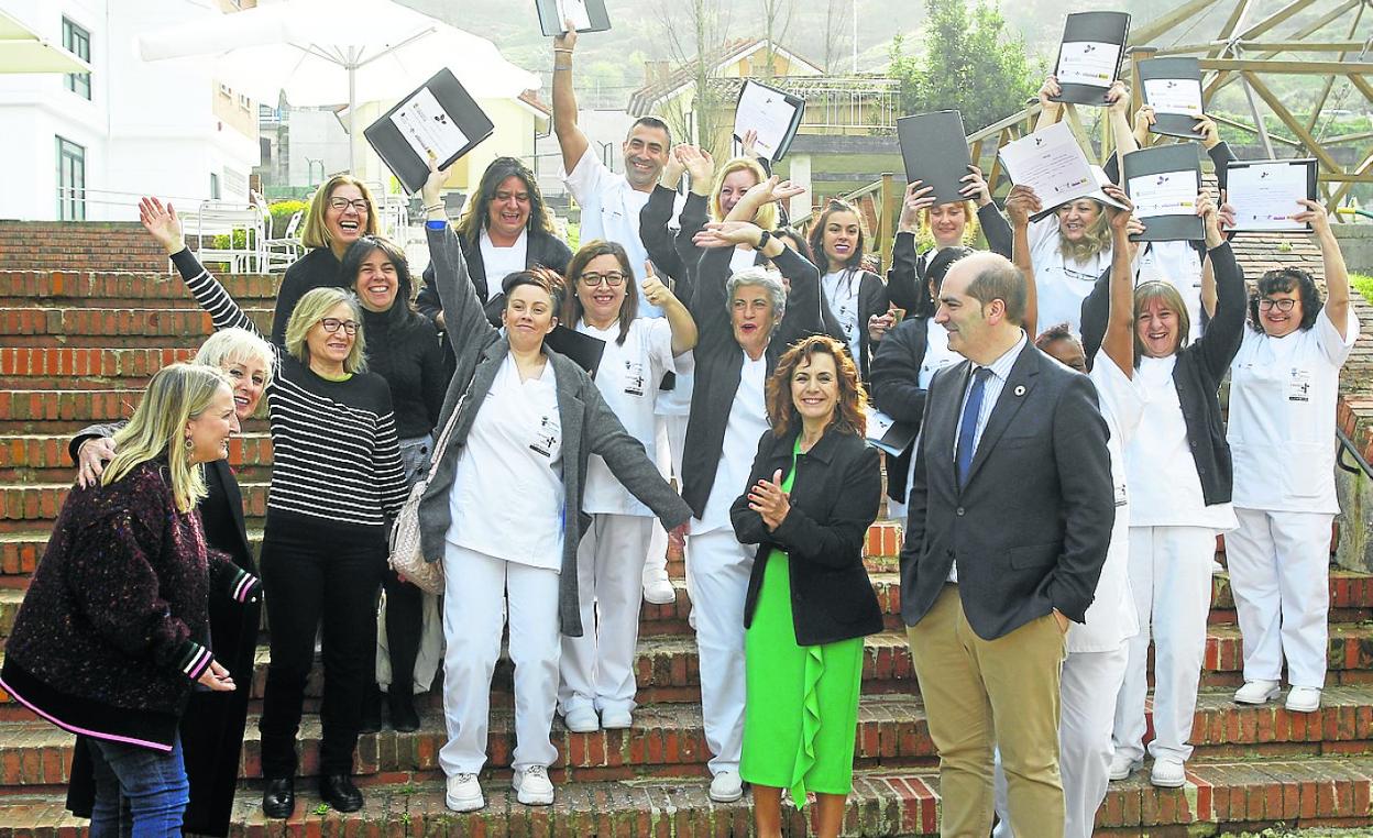
[[[629,326],[625,343],[619,337],[619,321],[608,329],[597,329],[585,320],[577,331],[605,342],[600,366],[596,369],[596,390],[605,405],[619,417],[625,431],[644,444],[644,451],[656,462],[654,433],[654,399],[663,373],[673,369],[673,331],[666,318],[640,317]],[[582,512],[622,516],[652,516],[610,470],[599,454],[586,462],[586,490]]]

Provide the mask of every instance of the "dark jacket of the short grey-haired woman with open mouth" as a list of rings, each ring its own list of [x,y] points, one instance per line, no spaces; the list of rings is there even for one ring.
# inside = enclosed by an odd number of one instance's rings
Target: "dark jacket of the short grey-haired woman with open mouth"
[[[735,340],[729,322],[729,300],[725,296],[725,283],[729,280],[730,248],[707,250],[700,259],[696,294],[692,298],[691,313],[696,320],[696,383],[691,398],[691,418],[686,421],[686,444],[682,450],[682,499],[691,505],[692,513],[700,517],[706,512],[711,487],[715,484],[715,468],[725,447],[725,425],[729,422],[729,407],[739,390],[739,379],[744,369],[744,350]],[[777,359],[791,343],[806,335],[822,333],[824,321],[820,311],[824,295],[820,294],[820,272],[800,254],[784,248],[773,263],[791,281],[787,295],[787,310],[773,326],[768,343],[768,374],[777,369]],[[739,487],[724,487],[735,496]]]

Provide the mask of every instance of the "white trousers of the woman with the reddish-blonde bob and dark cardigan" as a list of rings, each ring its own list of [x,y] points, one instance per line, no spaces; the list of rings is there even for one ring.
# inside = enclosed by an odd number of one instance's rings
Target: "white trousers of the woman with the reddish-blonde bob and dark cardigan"
[[[1115,750],[1144,757],[1144,698],[1153,636],[1153,734],[1149,753],[1186,761],[1205,656],[1215,531],[1205,527],[1131,527],[1130,587],[1140,634],[1116,699]]]

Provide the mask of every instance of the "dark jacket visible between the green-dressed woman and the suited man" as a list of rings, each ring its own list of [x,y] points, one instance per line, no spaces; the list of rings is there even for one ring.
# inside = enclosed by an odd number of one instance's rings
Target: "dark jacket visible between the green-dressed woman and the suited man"
[[[935,325],[935,329],[943,326]],[[928,317],[906,317],[877,344],[872,359],[872,374],[868,391],[879,410],[912,425],[917,432],[925,416],[925,391],[920,387],[920,365],[925,362],[925,337],[930,333]],[[901,457],[887,458],[887,496],[898,503],[906,502],[906,472],[914,443]]]

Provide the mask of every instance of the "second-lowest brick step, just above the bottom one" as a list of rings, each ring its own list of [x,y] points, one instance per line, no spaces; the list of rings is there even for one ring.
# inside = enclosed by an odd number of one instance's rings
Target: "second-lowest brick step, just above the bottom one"
[[[1373,753],[1373,705],[1369,687],[1335,687],[1326,691],[1318,713],[1289,713],[1278,702],[1262,708],[1236,706],[1230,691],[1203,693],[1197,701],[1192,743],[1195,761],[1218,758],[1306,758]],[[319,716],[306,716],[301,730],[301,776],[319,775],[321,738]],[[658,704],[634,712],[629,731],[570,732],[553,723],[559,757],[552,775],[559,782],[630,779],[641,775],[700,775],[710,758],[700,705]],[[430,706],[415,732],[384,730],[364,734],[358,742],[354,774],[439,779],[438,752],[448,742],[443,715]],[[67,782],[73,738],[38,720],[0,721],[0,786],[60,786]],[[487,753],[492,769],[508,769],[515,747],[514,710],[492,713]],[[934,767],[924,705],[913,695],[865,695],[858,706],[855,765]],[[259,779],[261,737],[257,717],[249,720],[239,776]]]

